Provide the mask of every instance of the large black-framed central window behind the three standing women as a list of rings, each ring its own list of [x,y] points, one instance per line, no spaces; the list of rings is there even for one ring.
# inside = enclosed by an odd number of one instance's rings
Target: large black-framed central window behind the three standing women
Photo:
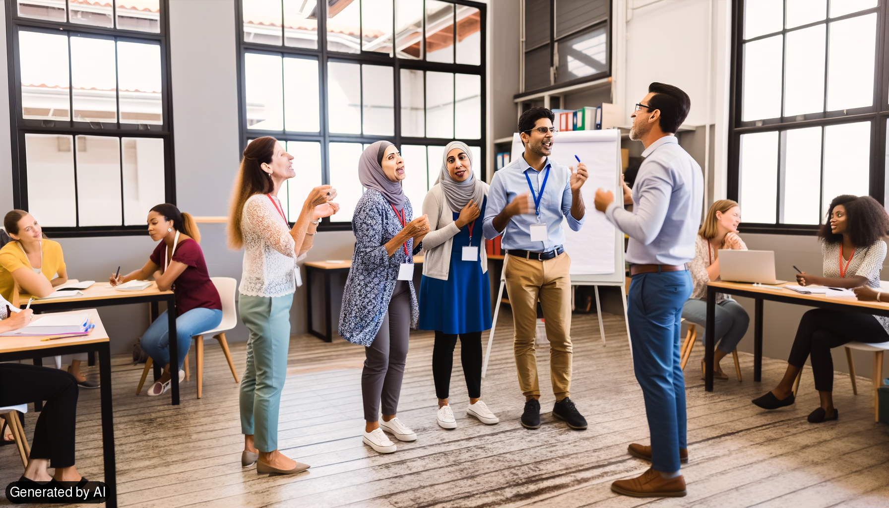
[[[330,184],[348,229],[364,189],[358,156],[392,141],[414,214],[454,139],[485,178],[485,4],[457,0],[240,0],[244,146],[275,136],[297,175],[279,197],[296,219],[312,187]]]

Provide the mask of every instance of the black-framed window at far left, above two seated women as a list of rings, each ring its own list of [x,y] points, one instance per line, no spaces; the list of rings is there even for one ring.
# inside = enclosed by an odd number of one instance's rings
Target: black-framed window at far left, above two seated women
[[[144,232],[175,195],[166,2],[5,5],[13,205],[55,236]]]

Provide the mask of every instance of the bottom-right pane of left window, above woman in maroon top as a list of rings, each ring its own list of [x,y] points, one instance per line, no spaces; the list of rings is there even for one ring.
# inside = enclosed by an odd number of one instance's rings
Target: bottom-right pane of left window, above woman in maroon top
[[[164,140],[124,138],[123,142],[124,225],[138,226],[145,224],[152,206],[166,202]]]

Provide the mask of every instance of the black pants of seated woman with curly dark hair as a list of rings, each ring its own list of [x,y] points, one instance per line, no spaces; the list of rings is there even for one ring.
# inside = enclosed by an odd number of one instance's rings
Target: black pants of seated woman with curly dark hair
[[[885,343],[889,341],[889,334],[870,314],[809,310],[799,321],[797,338],[793,340],[787,362],[794,367],[803,367],[805,358],[811,355],[815,390],[833,391],[833,358],[830,350],[852,341]]]

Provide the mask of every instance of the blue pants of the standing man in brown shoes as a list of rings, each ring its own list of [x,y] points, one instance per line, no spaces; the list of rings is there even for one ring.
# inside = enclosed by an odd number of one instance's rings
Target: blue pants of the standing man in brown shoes
[[[634,276],[629,286],[633,367],[645,396],[655,471],[679,471],[679,448],[687,448],[679,328],[682,305],[691,294],[688,270],[642,273]]]

